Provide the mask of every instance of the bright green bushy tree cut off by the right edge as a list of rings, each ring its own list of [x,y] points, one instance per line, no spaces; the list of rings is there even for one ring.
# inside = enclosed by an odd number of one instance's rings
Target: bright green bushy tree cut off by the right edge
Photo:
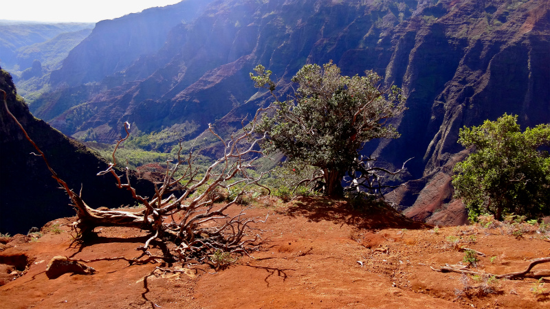
[[[504,114],[496,122],[462,128],[459,143],[473,153],[456,163],[452,184],[463,198],[470,218],[478,214],[529,217],[549,213],[550,124],[527,128],[516,123],[518,116]]]

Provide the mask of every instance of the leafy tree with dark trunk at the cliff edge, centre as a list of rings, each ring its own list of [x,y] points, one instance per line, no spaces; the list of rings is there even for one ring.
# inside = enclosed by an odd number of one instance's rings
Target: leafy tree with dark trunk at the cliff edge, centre
[[[255,87],[269,89],[278,106],[274,113],[264,115],[256,130],[267,133],[262,147],[267,152],[283,152],[287,161],[320,169],[329,196],[343,193],[342,178],[347,172],[369,174],[370,167],[359,155],[366,141],[399,137],[386,121],[404,111],[401,89],[382,87],[380,76],[373,71],[349,77],[341,76],[332,62],[323,67],[305,65],[292,78],[298,89],[283,102],[274,94],[272,72],[261,65],[254,71],[250,76]]]

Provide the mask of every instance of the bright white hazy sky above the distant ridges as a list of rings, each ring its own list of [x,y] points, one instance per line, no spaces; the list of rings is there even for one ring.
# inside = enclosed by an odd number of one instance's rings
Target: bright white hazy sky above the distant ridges
[[[181,0],[12,0],[2,1],[0,19],[98,22]]]

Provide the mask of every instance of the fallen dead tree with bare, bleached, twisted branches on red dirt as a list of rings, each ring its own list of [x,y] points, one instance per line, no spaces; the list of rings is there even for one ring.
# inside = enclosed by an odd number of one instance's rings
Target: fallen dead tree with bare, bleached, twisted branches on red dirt
[[[3,92],[3,91],[2,91]],[[258,181],[265,173],[254,177],[252,170],[257,168],[256,159],[263,157],[263,152],[258,150],[258,143],[265,137],[254,135],[254,129],[261,113],[267,109],[260,108],[248,126],[244,126],[238,135],[232,135],[229,141],[224,141],[214,133],[212,126],[209,132],[223,142],[224,154],[208,167],[206,172],[199,176],[195,166],[195,158],[198,152],[192,150],[186,157],[182,157],[181,142],[177,151],[177,158],[167,161],[164,181],[155,187],[155,194],[152,197],[140,196],[132,187],[129,179],[128,168],[126,175],[120,175],[115,169],[117,163],[115,152],[122,142],[129,137],[129,124],[124,124],[126,137],[120,137],[115,150],[113,151],[113,162],[109,168],[98,175],[112,174],[117,186],[131,192],[133,198],[144,206],[142,211],[117,211],[98,210],[86,205],[79,194],[76,194],[63,179],[54,172],[48,163],[46,156],[40,148],[28,136],[23,126],[10,113],[4,94],[4,105],[8,114],[14,119],[17,125],[23,130],[26,139],[36,148],[39,155],[43,157],[47,168],[53,178],[61,185],[71,198],[72,206],[76,210],[78,220],[74,222],[74,228],[85,236],[96,227],[137,227],[151,232],[151,237],[140,247],[149,256],[148,248],[153,240],[169,242],[170,252],[164,257],[170,260],[195,259],[201,262],[208,262],[208,256],[217,251],[229,253],[246,253],[248,248],[259,243],[259,229],[252,226],[258,222],[265,222],[261,218],[250,218],[245,211],[232,211],[228,209],[248,190],[252,185],[258,185]],[[257,174],[256,174],[257,175]],[[171,194],[175,187],[183,185],[184,193],[179,196]],[[225,203],[214,203],[217,188],[229,189],[239,187],[240,192],[232,201]],[[200,190],[199,190],[200,189]],[[199,191],[197,191],[199,190]],[[198,192],[201,192],[200,194]],[[137,262],[137,261],[134,261]]]

